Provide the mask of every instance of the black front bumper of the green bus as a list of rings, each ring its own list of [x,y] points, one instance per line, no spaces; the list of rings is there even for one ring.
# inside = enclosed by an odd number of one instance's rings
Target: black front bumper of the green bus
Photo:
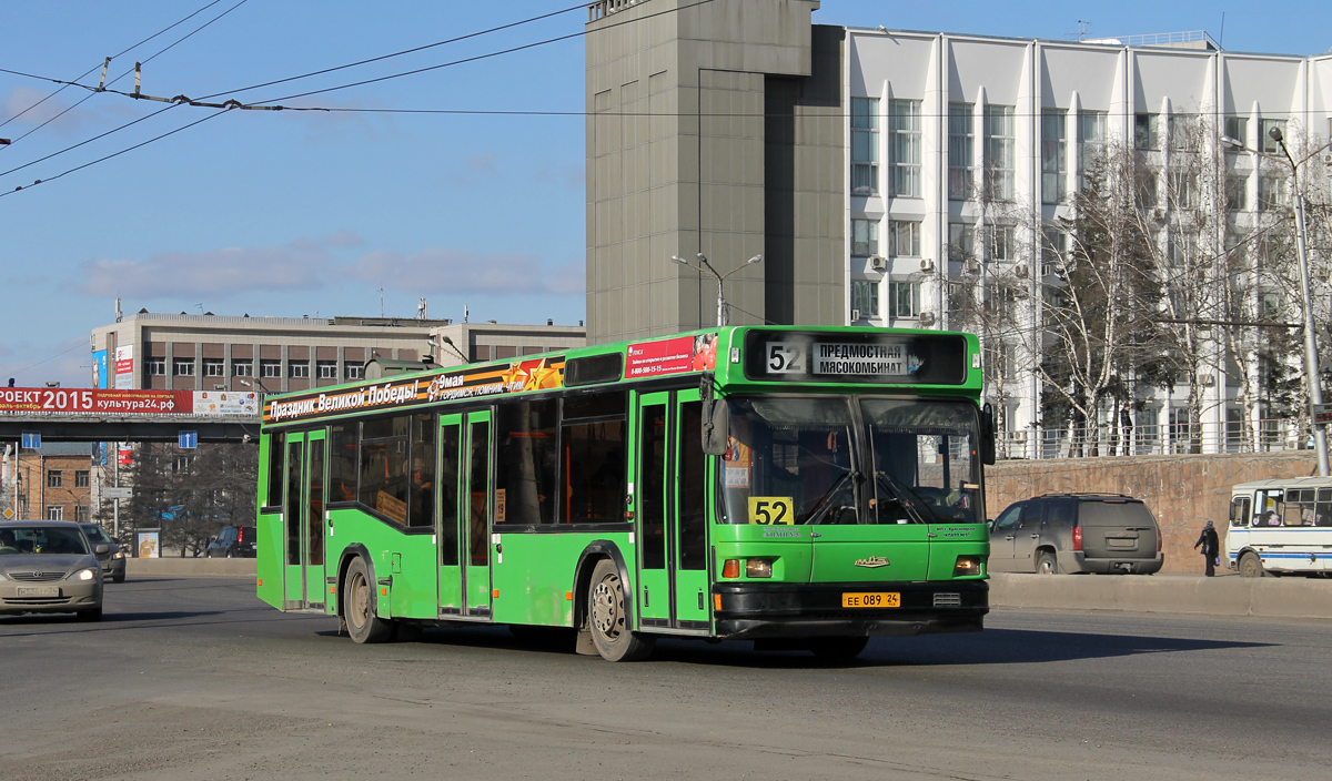
[[[847,608],[844,593],[898,593],[896,608]],[[984,580],[936,583],[721,583],[717,636],[726,640],[912,636],[979,632],[990,612]]]

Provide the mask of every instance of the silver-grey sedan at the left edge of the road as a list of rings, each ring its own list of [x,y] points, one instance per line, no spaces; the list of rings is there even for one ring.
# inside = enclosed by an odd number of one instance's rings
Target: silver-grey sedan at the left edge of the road
[[[0,522],[0,615],[75,613],[101,620],[101,565],[71,520]]]

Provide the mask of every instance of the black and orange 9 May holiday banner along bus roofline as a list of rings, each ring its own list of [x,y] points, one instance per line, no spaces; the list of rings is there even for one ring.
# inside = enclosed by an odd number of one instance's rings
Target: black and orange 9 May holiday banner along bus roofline
[[[264,422],[289,423],[324,415],[392,410],[519,391],[553,390],[563,387],[563,379],[565,359],[562,355],[514,361],[507,366],[482,366],[336,391],[269,398],[264,400]]]

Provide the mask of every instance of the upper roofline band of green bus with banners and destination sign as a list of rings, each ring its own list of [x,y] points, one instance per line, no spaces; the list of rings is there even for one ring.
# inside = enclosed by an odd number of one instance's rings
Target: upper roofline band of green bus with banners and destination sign
[[[410,410],[440,402],[713,373],[721,395],[741,391],[910,387],[979,396],[979,342],[956,331],[863,326],[729,326],[634,342],[518,355],[273,394],[264,426]]]

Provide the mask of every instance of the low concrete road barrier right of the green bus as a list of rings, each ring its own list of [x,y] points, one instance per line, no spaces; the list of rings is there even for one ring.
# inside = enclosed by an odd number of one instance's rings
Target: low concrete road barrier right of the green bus
[[[1332,619],[1332,580],[1154,575],[991,575],[998,608]]]

